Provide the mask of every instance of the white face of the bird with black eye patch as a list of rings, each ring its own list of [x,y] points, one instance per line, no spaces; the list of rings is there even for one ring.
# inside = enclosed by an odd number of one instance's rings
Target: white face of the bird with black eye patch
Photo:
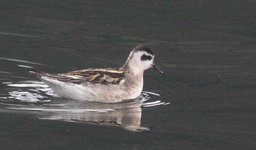
[[[147,53],[146,51],[136,51],[129,61],[129,65],[132,68],[139,68],[141,70],[146,70],[152,68],[154,64],[154,55]]]

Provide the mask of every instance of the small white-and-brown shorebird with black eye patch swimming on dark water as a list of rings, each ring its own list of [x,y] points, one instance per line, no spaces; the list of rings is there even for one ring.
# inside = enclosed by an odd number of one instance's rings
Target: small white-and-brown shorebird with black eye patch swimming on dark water
[[[58,96],[74,100],[115,103],[137,99],[143,89],[143,72],[154,68],[154,54],[145,45],[136,46],[120,68],[88,68],[62,74],[28,70],[48,85]]]

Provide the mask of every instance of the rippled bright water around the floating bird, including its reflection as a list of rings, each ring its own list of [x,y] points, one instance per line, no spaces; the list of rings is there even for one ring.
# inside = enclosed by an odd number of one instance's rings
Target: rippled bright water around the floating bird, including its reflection
[[[38,81],[2,82],[10,87],[1,94],[0,110],[29,113],[38,119],[53,119],[77,123],[120,126],[133,132],[149,131],[140,126],[143,108],[155,108],[169,103],[154,92],[142,92],[135,100],[101,103],[63,99],[48,85]]]

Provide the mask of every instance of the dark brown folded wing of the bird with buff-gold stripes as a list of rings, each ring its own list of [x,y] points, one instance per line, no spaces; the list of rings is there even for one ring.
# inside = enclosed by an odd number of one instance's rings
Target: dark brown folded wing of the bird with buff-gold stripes
[[[29,70],[29,72],[37,77],[42,76],[55,79],[66,83],[100,83],[100,84],[119,84],[124,79],[125,73],[122,68],[95,68],[78,70],[63,74],[48,74],[44,72],[37,72]]]

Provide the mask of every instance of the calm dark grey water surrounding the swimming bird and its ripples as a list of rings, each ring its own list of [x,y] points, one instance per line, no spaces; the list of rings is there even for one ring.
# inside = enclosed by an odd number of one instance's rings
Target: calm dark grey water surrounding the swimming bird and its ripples
[[[254,0],[0,1],[0,41],[2,150],[256,148]],[[168,104],[142,107],[140,125],[149,132],[37,119],[40,111],[7,108],[43,106],[7,98],[28,89],[8,84],[39,81],[27,67],[51,73],[119,67],[137,44],[152,48],[168,73],[144,74],[143,91]]]

